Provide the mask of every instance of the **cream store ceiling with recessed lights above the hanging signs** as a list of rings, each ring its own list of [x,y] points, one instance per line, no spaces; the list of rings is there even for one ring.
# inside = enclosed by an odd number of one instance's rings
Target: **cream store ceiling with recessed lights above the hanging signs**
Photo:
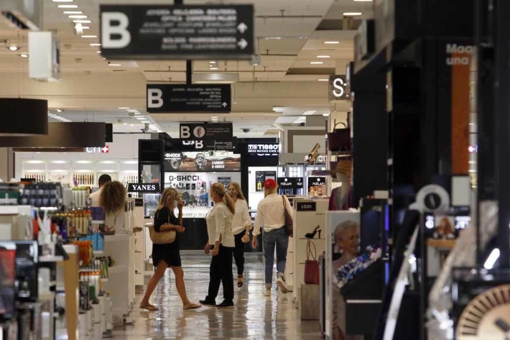
[[[99,4],[144,4],[142,0],[74,0],[71,3],[44,1],[44,30],[56,32],[61,42],[62,81],[38,83],[28,79],[28,58],[20,58],[27,51],[27,34],[9,28],[0,19],[0,97],[34,97],[48,99],[52,109],[64,109],[61,114],[73,121],[106,121],[118,124],[119,130],[138,132],[143,126],[118,107],[141,111],[151,123],[175,135],[179,121],[210,120],[205,114],[145,114],[145,84],[149,82],[185,82],[185,61],[110,61],[122,64],[108,66],[97,47],[98,38],[81,38],[75,34],[72,19],[64,10],[79,10],[92,22],[85,35],[98,36]],[[151,4],[168,4],[168,0],[151,0]],[[238,73],[240,83],[233,85],[233,112],[217,114],[220,120],[232,121],[239,137],[262,137],[277,133],[273,123],[281,116],[272,108],[331,107],[348,110],[348,104],[330,104],[327,99],[326,79],[331,70],[344,73],[345,65],[353,59],[355,31],[316,30],[325,18],[342,19],[343,12],[361,11],[362,17],[372,15],[372,2],[353,0],[185,0],[185,4],[249,4],[256,11],[256,50],[262,55],[261,65],[251,66],[247,61],[216,60],[218,70],[209,69],[209,61],[194,62],[194,72]],[[78,5],[77,9],[60,9],[59,4]],[[1,9],[1,5],[0,5]],[[282,11],[283,17],[282,17]],[[292,17],[287,17],[292,16]],[[298,16],[298,17],[295,17]],[[4,44],[3,40],[9,40]],[[324,41],[340,41],[325,44]],[[10,51],[15,44],[21,49]],[[329,58],[319,59],[318,55]],[[30,56],[33,58],[34,56]],[[312,61],[322,61],[312,65]],[[293,112],[292,115],[299,115]],[[287,114],[288,115],[288,114]],[[285,124],[290,118],[285,118]],[[281,120],[282,121],[282,120]],[[125,123],[125,124],[124,124]],[[131,126],[133,124],[133,126]],[[249,128],[249,133],[242,132]],[[274,135],[271,135],[274,137]]]

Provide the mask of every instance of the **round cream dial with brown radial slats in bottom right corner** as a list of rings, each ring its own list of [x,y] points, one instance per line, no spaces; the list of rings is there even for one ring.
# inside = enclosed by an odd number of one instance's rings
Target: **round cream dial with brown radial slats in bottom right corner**
[[[506,339],[510,330],[510,284],[477,295],[462,311],[457,340]]]

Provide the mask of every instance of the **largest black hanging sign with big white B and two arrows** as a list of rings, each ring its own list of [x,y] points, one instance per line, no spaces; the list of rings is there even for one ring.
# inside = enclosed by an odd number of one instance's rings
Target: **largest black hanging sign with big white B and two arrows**
[[[100,5],[109,59],[250,59],[253,5]]]

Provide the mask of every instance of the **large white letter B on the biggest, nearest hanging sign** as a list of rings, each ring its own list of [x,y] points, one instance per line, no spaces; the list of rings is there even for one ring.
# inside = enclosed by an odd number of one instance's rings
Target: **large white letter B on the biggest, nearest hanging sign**
[[[115,23],[115,25],[112,25]],[[122,12],[105,12],[101,15],[101,43],[104,48],[124,48],[131,42],[131,33],[127,31],[129,18]],[[112,39],[120,35],[120,39]]]

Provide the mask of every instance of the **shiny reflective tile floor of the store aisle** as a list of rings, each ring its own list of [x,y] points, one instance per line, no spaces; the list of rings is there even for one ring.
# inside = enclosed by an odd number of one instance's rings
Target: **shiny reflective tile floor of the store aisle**
[[[151,303],[155,312],[138,308],[143,292],[137,292],[131,317],[134,325],[114,329],[116,339],[320,339],[318,321],[301,321],[292,292],[265,297],[264,266],[260,254],[245,254],[245,283],[234,284],[235,307],[202,307],[183,311],[170,269],[161,279]],[[200,251],[181,252],[188,297],[198,302],[207,295],[210,257]],[[234,265],[234,279],[237,277]],[[222,289],[217,302],[223,297]]]

